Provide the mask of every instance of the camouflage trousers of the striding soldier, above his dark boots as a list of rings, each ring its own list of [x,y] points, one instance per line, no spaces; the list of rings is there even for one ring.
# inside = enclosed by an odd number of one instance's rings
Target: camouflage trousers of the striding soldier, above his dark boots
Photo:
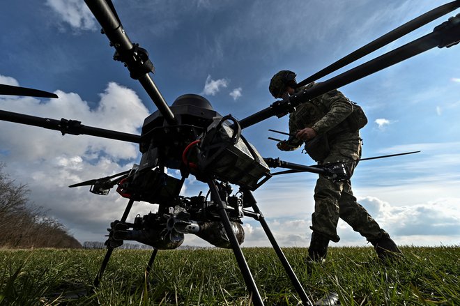
[[[320,164],[331,162],[349,162],[351,174],[361,157],[361,139],[359,132],[344,133],[330,143],[330,153]],[[317,231],[334,242],[340,240],[337,235],[339,217],[358,231],[367,240],[380,238],[385,231],[356,201],[351,190],[351,181],[333,182],[321,175],[314,189],[315,207],[312,214],[313,231]]]

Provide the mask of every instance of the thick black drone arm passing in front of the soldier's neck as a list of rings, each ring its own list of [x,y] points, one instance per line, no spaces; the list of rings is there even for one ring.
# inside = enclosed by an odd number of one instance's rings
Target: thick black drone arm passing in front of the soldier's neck
[[[316,84],[309,89],[305,89],[289,98],[274,102],[266,109],[243,118],[239,121],[241,128],[247,128],[250,125],[259,123],[271,116],[284,116],[292,112],[292,109],[307,102],[309,99],[327,93],[333,89],[345,86],[352,82],[367,77],[375,72],[393,66],[396,63],[410,59],[411,57],[425,52],[434,47],[452,47],[460,41],[460,14],[451,17],[447,22],[436,26],[433,32],[413,40],[397,49],[367,61],[360,66],[347,70],[336,77]]]

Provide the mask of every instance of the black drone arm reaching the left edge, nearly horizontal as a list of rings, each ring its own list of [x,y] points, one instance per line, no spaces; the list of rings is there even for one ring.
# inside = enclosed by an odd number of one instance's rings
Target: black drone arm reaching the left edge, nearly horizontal
[[[22,123],[25,125],[39,126],[48,130],[59,130],[61,131],[62,135],[91,135],[102,138],[128,141],[136,144],[141,142],[141,137],[139,135],[117,132],[114,130],[105,130],[103,128],[94,128],[92,126],[82,125],[80,121],[67,120],[65,118],[56,120],[0,110],[0,120]]]

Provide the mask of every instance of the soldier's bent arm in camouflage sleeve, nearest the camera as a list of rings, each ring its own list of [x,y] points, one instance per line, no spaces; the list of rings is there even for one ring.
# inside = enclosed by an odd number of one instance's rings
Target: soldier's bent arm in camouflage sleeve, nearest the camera
[[[312,126],[318,135],[328,132],[353,112],[350,100],[337,89],[325,93],[321,98],[323,99],[321,102],[329,105],[329,112]]]

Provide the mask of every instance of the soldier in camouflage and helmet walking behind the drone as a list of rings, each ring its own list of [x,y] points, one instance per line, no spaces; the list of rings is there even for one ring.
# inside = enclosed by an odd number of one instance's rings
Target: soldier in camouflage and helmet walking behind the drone
[[[315,84],[297,88],[296,74],[282,70],[271,79],[269,90],[275,98],[289,98],[289,95],[312,86]],[[345,162],[351,176],[361,158],[362,145],[359,130],[351,128],[354,126],[352,116],[349,116],[351,112],[352,102],[337,90],[305,101],[289,116],[289,133],[296,136],[280,141],[277,147],[282,151],[293,151],[305,144],[305,151],[319,165]],[[339,241],[339,217],[374,245],[378,259],[387,261],[401,253],[388,233],[358,204],[349,179],[335,182],[320,174],[314,200],[310,227],[313,232],[307,262],[323,261],[329,241]]]

